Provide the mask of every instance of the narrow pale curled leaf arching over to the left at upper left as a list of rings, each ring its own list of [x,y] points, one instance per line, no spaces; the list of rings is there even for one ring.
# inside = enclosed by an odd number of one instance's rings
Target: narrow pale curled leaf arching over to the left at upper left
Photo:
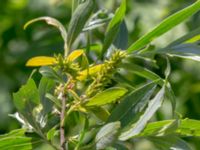
[[[65,27],[62,25],[62,23],[60,23],[55,18],[39,17],[39,18],[32,19],[24,25],[24,29],[26,29],[30,24],[38,22],[38,21],[45,21],[47,24],[52,25],[52,26],[56,27],[57,29],[59,29],[61,36],[62,36],[64,43],[65,43],[64,49],[67,49],[67,31],[65,30]]]

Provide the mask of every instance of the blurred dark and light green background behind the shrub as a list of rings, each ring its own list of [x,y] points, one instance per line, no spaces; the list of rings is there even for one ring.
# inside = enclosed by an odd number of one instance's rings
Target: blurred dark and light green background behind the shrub
[[[114,12],[120,0],[97,0],[99,9]],[[128,0],[126,24],[129,45],[148,32],[170,14],[190,5],[194,0]],[[63,41],[59,32],[45,23],[36,23],[26,31],[23,25],[30,19],[51,16],[66,27],[71,17],[71,0],[0,0],[0,134],[19,128],[20,124],[8,114],[16,110],[12,93],[26,82],[32,68],[25,67],[33,56],[62,53]],[[154,42],[164,47],[188,31],[200,25],[200,12]],[[98,31],[98,32],[97,32]],[[94,31],[103,37],[103,30]],[[101,39],[103,40],[103,39]],[[200,119],[200,63],[182,59],[170,59],[170,81],[177,97],[177,112],[183,118]],[[164,103],[158,119],[170,117],[170,105]],[[200,149],[199,138],[187,138]]]

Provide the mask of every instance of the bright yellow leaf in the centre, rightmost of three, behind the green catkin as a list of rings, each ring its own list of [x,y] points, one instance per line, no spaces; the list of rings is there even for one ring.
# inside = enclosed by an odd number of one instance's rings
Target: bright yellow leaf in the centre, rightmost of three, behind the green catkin
[[[85,69],[80,72],[80,75],[77,77],[78,80],[84,80],[87,78],[88,75],[95,76],[99,71],[101,71],[101,68],[104,64],[98,64],[96,66],[89,67],[88,69]]]

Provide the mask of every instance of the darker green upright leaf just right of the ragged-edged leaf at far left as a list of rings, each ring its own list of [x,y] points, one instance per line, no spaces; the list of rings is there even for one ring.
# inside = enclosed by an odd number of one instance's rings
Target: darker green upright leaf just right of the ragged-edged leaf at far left
[[[44,114],[47,114],[52,110],[53,103],[49,101],[45,95],[46,93],[53,92],[54,86],[55,82],[53,80],[46,77],[41,78],[38,90]]]

